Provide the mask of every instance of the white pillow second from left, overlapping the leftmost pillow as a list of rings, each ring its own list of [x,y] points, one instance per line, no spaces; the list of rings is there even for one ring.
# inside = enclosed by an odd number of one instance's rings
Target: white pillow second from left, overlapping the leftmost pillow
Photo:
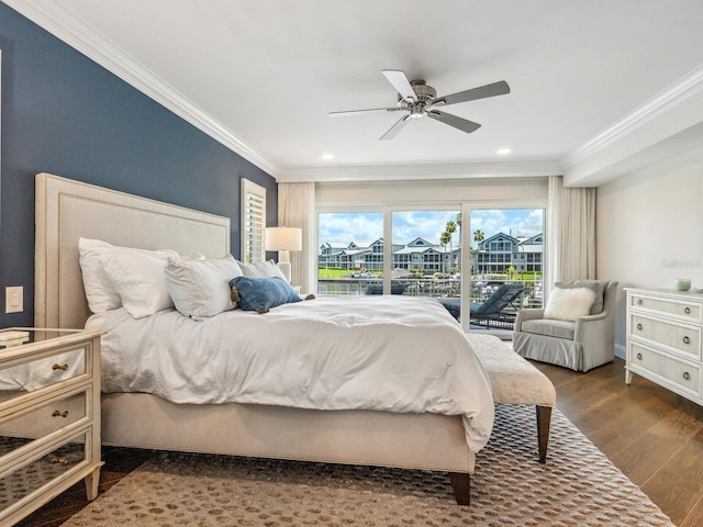
[[[100,256],[110,283],[134,318],[174,307],[164,277],[166,261],[150,251],[111,250]]]

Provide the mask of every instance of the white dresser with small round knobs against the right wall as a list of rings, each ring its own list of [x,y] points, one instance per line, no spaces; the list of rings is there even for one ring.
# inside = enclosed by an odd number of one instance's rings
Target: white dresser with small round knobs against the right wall
[[[633,373],[703,404],[703,293],[659,289],[627,292],[625,382]]]

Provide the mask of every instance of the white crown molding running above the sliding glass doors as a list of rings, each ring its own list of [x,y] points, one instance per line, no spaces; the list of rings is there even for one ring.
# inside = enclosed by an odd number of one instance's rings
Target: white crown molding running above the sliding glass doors
[[[408,181],[479,178],[534,178],[560,176],[554,161],[472,162],[443,165],[389,165],[314,167],[281,170],[279,182]]]

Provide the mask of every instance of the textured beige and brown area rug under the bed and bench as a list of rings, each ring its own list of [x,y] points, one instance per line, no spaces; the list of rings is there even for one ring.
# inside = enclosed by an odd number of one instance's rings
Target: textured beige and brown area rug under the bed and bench
[[[536,442],[534,407],[496,406],[466,507],[445,473],[158,452],[64,527],[673,525],[558,411]]]

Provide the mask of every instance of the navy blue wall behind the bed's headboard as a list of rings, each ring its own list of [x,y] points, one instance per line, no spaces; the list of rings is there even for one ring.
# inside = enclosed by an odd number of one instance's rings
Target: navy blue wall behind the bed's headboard
[[[230,216],[235,257],[241,178],[267,189],[276,224],[272,177],[2,3],[0,49],[0,327],[34,321],[37,172]],[[4,313],[8,285],[23,313]]]

